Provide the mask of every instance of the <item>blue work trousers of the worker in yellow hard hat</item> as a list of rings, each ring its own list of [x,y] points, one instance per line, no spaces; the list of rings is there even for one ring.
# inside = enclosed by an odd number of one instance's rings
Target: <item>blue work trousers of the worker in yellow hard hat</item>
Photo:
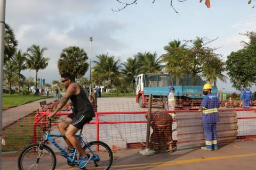
[[[217,122],[204,123],[204,135],[206,148],[212,149],[212,145],[217,147]]]

